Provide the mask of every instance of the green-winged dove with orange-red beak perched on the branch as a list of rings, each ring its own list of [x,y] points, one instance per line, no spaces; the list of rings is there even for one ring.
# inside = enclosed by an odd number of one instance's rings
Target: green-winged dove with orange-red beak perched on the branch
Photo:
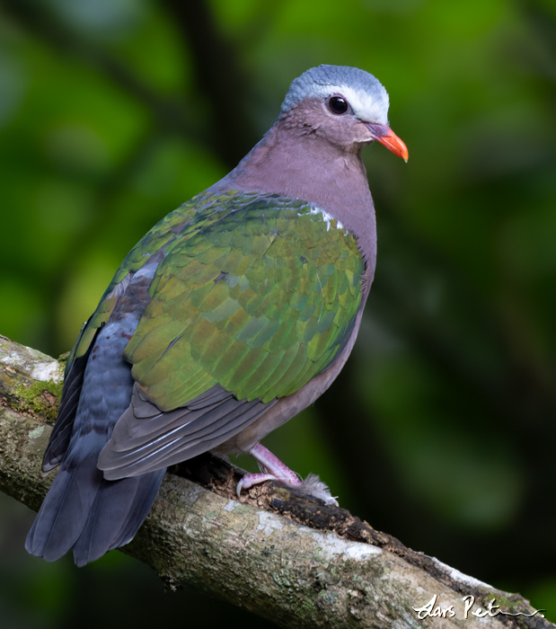
[[[238,496],[300,478],[260,444],[340,373],[375,273],[361,159],[406,162],[374,75],[322,65],[290,85],[251,152],[128,253],[66,364],[42,470],[59,467],[27,536],[76,565],[128,544],[169,465],[249,453]],[[307,492],[334,503],[324,483]]]

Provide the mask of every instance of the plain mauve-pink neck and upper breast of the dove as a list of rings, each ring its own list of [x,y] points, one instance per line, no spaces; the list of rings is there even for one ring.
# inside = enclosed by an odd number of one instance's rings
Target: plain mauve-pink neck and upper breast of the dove
[[[331,143],[303,110],[301,103],[289,115],[280,116],[240,164],[209,190],[281,194],[331,214],[357,237],[366,262],[366,297],[375,272],[376,226],[361,145],[346,150],[340,140]]]

